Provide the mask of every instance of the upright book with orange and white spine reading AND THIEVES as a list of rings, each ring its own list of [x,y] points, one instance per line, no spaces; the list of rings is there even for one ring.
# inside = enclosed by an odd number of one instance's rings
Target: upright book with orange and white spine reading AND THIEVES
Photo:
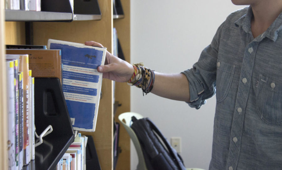
[[[23,96],[24,96],[24,126],[23,126],[23,164],[27,165],[29,157],[29,55],[6,54],[6,59],[18,59],[18,70],[23,72]]]

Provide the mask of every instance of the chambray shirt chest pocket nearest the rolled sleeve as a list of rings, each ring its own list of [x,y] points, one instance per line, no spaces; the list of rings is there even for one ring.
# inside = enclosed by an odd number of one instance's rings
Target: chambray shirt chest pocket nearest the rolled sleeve
[[[217,60],[216,98],[217,103],[223,101],[232,84],[235,73],[235,65],[230,65]]]

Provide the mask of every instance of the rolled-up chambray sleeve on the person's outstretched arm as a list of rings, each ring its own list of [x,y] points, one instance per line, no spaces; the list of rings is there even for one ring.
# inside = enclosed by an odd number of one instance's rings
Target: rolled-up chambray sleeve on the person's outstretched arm
[[[200,55],[193,68],[181,72],[189,81],[190,107],[199,109],[206,103],[206,99],[216,93],[217,55],[220,35],[224,23],[217,29],[217,33]]]

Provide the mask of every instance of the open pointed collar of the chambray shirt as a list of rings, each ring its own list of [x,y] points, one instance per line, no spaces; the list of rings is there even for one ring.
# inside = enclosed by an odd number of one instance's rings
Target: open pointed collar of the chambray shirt
[[[235,24],[238,26],[242,26],[242,29],[246,33],[251,33],[251,20],[253,17],[252,7],[247,7],[248,11],[241,18],[235,21]],[[269,26],[269,28],[260,35],[260,38],[267,37],[274,42],[278,38],[278,33],[282,29],[282,13],[275,19],[275,21]]]

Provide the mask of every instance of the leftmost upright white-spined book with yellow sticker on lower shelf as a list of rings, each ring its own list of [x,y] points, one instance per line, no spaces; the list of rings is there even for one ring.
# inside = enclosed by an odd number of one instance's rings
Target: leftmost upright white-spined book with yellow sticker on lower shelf
[[[15,144],[15,74],[14,61],[6,60],[6,86],[7,86],[7,115],[8,115],[8,166],[16,168],[16,144]]]

